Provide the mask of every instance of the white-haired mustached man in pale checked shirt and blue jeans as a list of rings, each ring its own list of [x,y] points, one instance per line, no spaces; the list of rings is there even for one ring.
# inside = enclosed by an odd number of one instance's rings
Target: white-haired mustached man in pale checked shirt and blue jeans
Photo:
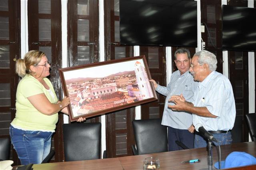
[[[219,144],[231,144],[230,130],[234,126],[236,107],[232,86],[228,78],[216,72],[217,59],[214,54],[202,50],[194,54],[190,72],[194,80],[200,82],[194,92],[192,102],[185,96],[172,96],[169,101],[176,103],[169,105],[172,110],[186,110],[193,113],[193,125],[203,126],[218,140]],[[216,144],[214,142],[214,144]],[[206,140],[195,134],[195,148],[206,147]]]

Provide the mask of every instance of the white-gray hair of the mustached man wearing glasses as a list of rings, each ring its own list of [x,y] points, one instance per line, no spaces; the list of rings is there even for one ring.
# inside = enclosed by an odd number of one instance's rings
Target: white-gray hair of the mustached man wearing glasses
[[[199,64],[208,64],[209,69],[211,71],[215,71],[217,68],[217,59],[216,56],[206,50],[202,50],[199,52],[196,52],[196,54],[194,54],[194,56],[198,56],[198,63]]]

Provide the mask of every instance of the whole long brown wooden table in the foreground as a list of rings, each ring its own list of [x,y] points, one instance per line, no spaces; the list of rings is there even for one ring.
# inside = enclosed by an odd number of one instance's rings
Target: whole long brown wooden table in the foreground
[[[253,156],[256,156],[256,142],[223,145],[221,146],[221,159],[225,160],[226,156],[228,156],[228,154],[233,151],[244,151]],[[143,160],[151,156],[159,158],[161,170],[200,170],[202,168],[208,168],[208,153],[206,148],[126,156],[120,158],[35,164],[33,165],[33,168],[34,170],[142,170]],[[214,164],[218,161],[216,147],[212,147],[212,157]],[[200,159],[200,162],[181,163],[184,160],[192,159]],[[16,167],[13,168],[13,170],[15,169]],[[256,165],[238,169],[256,170]]]

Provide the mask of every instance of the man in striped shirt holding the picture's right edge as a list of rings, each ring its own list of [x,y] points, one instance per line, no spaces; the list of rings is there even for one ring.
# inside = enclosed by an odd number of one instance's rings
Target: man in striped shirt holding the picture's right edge
[[[176,140],[185,144],[188,148],[194,148],[194,127],[192,126],[192,114],[189,112],[173,111],[168,108],[168,99],[173,95],[183,94],[188,101],[192,100],[198,82],[194,82],[189,73],[190,52],[186,48],[179,48],[174,53],[177,71],[172,73],[167,87],[160,86],[154,80],[156,91],[166,96],[162,125],[168,126],[168,150],[181,150]],[[190,132],[191,131],[191,132]]]

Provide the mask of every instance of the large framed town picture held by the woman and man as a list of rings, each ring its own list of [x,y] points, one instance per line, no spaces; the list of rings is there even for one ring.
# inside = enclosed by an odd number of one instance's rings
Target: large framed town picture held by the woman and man
[[[157,100],[145,56],[60,68],[70,121]]]

